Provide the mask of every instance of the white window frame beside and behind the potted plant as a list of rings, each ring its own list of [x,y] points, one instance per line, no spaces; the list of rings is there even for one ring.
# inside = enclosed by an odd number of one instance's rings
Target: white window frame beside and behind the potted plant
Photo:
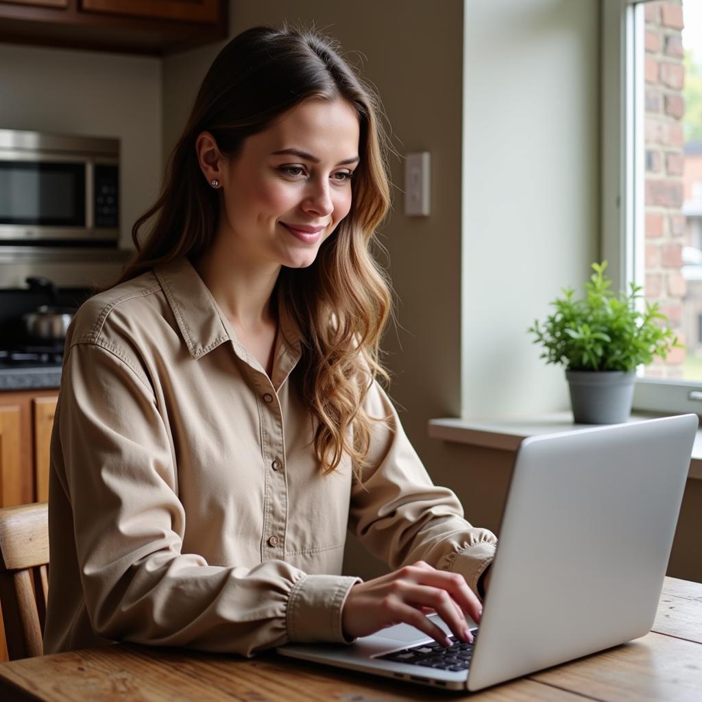
[[[602,3],[602,258],[616,290],[644,284],[644,91],[637,91],[637,77],[648,1]],[[645,378],[640,368],[633,406],[702,414],[702,382]]]

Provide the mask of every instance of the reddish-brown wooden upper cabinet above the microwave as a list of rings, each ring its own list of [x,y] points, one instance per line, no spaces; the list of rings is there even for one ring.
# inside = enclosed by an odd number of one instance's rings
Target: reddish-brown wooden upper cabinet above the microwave
[[[0,0],[0,42],[166,55],[227,38],[228,0]]]

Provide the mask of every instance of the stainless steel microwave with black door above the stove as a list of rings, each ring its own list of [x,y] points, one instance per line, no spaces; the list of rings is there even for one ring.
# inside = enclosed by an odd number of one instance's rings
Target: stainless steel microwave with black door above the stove
[[[0,248],[118,239],[119,139],[0,129]]]

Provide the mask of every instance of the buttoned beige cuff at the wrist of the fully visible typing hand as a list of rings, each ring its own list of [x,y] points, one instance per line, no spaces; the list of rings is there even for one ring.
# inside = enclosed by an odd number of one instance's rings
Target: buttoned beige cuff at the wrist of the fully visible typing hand
[[[304,575],[293,585],[288,600],[286,626],[295,643],[327,641],[349,643],[343,635],[341,611],[349,590],[361,578]]]

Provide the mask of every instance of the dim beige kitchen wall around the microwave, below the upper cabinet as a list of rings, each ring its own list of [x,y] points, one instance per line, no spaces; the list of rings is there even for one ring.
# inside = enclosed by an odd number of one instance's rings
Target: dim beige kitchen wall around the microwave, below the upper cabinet
[[[161,118],[158,58],[0,44],[0,128],[120,139],[123,247],[161,183]],[[0,286],[30,272],[71,284],[98,269],[0,264]]]

